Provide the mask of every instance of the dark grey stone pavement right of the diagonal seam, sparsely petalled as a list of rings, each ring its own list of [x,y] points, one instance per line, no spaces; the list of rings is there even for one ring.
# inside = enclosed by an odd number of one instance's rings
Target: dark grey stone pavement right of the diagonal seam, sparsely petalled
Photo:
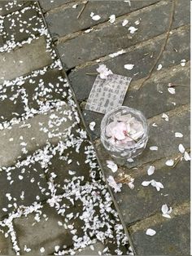
[[[190,1],[40,0],[40,4],[87,129],[96,122],[89,135],[105,176],[120,180],[129,174],[135,179],[133,190],[125,183],[121,192],[114,192],[135,253],[190,254],[190,163],[178,150],[180,143],[190,150]],[[101,19],[92,20],[91,12]],[[110,15],[116,15],[114,23],[108,21]],[[124,20],[129,20],[126,26]],[[137,31],[130,33],[130,26]],[[123,54],[111,55],[122,49]],[[116,174],[107,168],[111,157],[99,139],[103,115],[85,110],[99,64],[133,78],[124,105],[142,110],[150,124],[146,151],[132,163],[119,163]],[[127,70],[124,64],[134,67]],[[168,92],[169,83],[175,94]],[[176,137],[176,132],[183,137]],[[158,150],[151,151],[151,146]],[[175,161],[173,167],[165,165],[168,159]],[[152,178],[146,173],[149,166],[155,166]],[[164,189],[142,186],[151,179],[163,183]],[[171,218],[162,216],[164,204],[172,207]],[[155,236],[146,236],[147,228],[155,229]]]

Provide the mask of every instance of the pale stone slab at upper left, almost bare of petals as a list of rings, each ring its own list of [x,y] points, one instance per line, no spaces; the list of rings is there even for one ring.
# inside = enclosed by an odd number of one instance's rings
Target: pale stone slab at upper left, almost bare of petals
[[[25,44],[15,51],[1,53],[0,56],[0,83],[31,73],[33,70],[52,63],[50,53],[46,51],[44,37],[34,40],[30,45]]]

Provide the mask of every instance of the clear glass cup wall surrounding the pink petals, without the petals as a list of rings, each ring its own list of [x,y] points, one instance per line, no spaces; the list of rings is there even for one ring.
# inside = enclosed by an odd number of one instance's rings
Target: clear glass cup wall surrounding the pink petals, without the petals
[[[116,145],[111,143],[111,139],[107,137],[107,126],[116,120],[126,120],[128,115],[134,117],[136,121],[139,121],[143,126],[143,134],[141,138],[138,138],[137,141],[134,140],[132,144],[125,143],[124,145]],[[121,106],[115,109],[112,109],[103,117],[101,123],[101,141],[104,148],[107,149],[107,152],[111,154],[111,157],[117,159],[127,160],[129,158],[134,158],[142,154],[143,150],[146,148],[147,140],[149,139],[149,126],[146,120],[146,117],[142,112],[134,108],[129,108],[126,106]]]

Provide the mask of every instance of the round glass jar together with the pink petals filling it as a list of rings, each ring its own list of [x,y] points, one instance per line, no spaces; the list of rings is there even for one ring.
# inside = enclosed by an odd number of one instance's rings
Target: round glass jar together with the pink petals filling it
[[[125,130],[124,124],[126,125]],[[138,127],[140,130],[138,129],[137,131]],[[119,133],[118,129],[120,131]],[[115,135],[112,134],[111,130]],[[126,139],[124,139],[125,137]],[[146,117],[144,117],[142,112],[134,108],[121,106],[112,109],[103,117],[101,123],[101,141],[107,152],[111,154],[111,157],[124,160],[137,157],[146,148],[148,139],[149,126]]]

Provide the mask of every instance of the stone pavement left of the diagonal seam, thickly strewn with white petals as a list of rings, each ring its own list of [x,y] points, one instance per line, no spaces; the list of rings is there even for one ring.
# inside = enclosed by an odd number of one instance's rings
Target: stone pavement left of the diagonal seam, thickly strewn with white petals
[[[38,2],[0,39],[0,254],[133,254]]]

